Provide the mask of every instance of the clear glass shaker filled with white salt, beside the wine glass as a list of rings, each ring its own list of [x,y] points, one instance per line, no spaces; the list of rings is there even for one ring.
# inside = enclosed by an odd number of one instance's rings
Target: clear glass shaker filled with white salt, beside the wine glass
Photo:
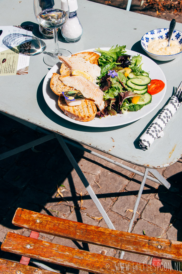
[[[61,1],[61,5],[64,5],[64,0]],[[77,0],[68,0],[70,14],[67,22],[61,28],[61,34],[67,42],[75,43],[80,40],[83,28],[77,17]]]

